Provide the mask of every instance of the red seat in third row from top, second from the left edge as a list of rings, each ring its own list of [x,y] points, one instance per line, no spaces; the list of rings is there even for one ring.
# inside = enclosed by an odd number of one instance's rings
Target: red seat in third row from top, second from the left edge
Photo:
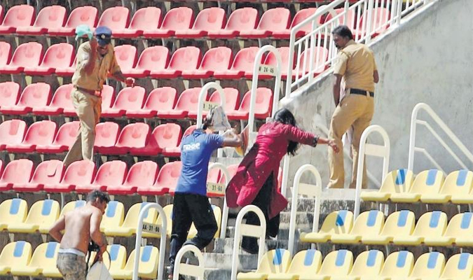
[[[11,115],[24,115],[48,105],[51,100],[51,86],[48,83],[32,83],[23,90],[18,104],[15,106],[1,106],[0,112]]]

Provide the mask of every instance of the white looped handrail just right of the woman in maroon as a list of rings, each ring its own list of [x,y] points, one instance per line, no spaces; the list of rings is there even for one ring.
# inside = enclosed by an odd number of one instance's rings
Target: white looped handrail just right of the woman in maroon
[[[301,183],[301,176],[304,172],[310,172],[315,177],[315,186],[306,183]],[[297,169],[296,176],[294,176],[294,184],[292,187],[291,200],[291,218],[289,220],[289,241],[287,249],[294,255],[294,235],[296,230],[296,214],[297,214],[297,200],[299,195],[306,195],[307,197],[315,197],[314,204],[314,221],[312,231],[317,232],[319,229],[320,218],[320,196],[322,195],[322,179],[320,173],[313,165],[303,165]]]

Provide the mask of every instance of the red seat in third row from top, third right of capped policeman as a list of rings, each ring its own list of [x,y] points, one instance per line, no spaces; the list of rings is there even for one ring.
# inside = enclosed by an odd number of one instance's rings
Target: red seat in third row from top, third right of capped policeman
[[[174,87],[158,87],[152,90],[142,109],[127,110],[128,118],[153,118],[160,111],[171,111],[177,102],[177,91]]]

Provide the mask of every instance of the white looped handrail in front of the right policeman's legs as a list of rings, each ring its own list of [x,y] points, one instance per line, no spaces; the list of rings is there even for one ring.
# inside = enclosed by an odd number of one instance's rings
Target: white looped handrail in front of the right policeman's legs
[[[368,144],[368,137],[372,133],[378,133],[383,138],[383,145],[376,145],[376,144]],[[382,181],[384,181],[386,175],[388,175],[389,169],[389,157],[390,157],[390,139],[388,137],[388,132],[386,132],[383,127],[379,125],[370,125],[366,127],[362,134],[362,138],[359,141],[359,153],[358,153],[358,167],[357,167],[357,186],[355,189],[355,211],[353,214],[353,221],[359,215],[359,195],[361,194],[362,190],[362,182],[363,182],[363,167],[364,167],[364,156],[371,155],[373,157],[383,158],[383,173],[382,173]]]

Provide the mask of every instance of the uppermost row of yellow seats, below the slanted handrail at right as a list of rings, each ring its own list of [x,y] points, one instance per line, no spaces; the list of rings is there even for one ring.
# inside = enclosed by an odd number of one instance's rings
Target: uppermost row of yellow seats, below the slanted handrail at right
[[[473,203],[473,172],[466,169],[444,172],[430,169],[420,172],[414,179],[411,170],[390,172],[378,191],[364,191],[362,200],[373,202],[423,202],[444,204]]]

